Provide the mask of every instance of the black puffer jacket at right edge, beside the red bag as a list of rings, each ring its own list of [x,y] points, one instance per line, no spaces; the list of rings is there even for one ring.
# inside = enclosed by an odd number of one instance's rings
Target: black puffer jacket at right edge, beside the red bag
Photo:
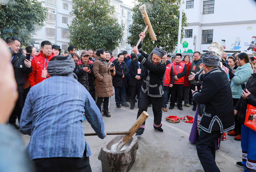
[[[256,74],[255,73],[253,73],[252,76],[248,79],[246,83],[246,89],[248,89],[248,91],[251,94],[248,95],[246,99],[243,99],[241,97],[234,107],[234,109],[238,111],[237,120],[242,124],[244,123],[244,120],[245,120],[247,104],[256,106]]]

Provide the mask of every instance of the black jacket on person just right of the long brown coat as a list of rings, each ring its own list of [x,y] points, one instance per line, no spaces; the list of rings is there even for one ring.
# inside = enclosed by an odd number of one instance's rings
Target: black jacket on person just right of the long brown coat
[[[129,70],[127,68],[127,65],[123,61],[122,62],[123,67],[121,68],[120,63],[118,62],[118,59],[115,59],[114,61],[112,61],[112,63],[116,67],[116,75],[113,76],[113,86],[122,87],[122,82],[125,81],[125,84],[126,84],[126,77],[129,75]],[[124,74],[124,79],[122,78],[123,74]]]

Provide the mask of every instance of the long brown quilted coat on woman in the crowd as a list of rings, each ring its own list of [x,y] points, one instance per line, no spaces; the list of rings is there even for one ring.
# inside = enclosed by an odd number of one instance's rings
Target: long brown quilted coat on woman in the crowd
[[[110,97],[113,95],[112,76],[102,57],[96,57],[93,63],[93,73],[96,77],[95,87],[97,97]]]

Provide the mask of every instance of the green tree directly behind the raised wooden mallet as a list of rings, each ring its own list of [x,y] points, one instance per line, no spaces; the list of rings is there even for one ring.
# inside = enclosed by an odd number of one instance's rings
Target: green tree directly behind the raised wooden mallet
[[[154,47],[173,52],[178,42],[178,26],[179,26],[179,3],[177,0],[137,0],[138,3],[132,11],[132,24],[129,26],[130,36],[128,43],[133,47],[138,42],[138,35],[145,28],[145,22],[140,13],[139,7],[142,4],[146,6],[152,28],[156,34],[156,41],[152,42],[150,35],[146,34],[143,40],[143,50],[150,53]],[[186,14],[182,15],[182,38],[184,37],[184,26],[186,23]]]

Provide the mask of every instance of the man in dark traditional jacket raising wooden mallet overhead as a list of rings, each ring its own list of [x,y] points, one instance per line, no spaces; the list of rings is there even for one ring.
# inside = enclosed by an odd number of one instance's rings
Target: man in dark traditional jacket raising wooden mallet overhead
[[[145,38],[145,34],[140,34],[142,41]],[[142,87],[140,92],[140,107],[137,118],[143,111],[147,111],[148,105],[152,103],[152,109],[154,113],[154,129],[160,133],[164,130],[161,128],[162,124],[162,104],[164,89],[163,79],[166,66],[162,61],[162,57],[165,55],[164,51],[159,48],[154,48],[150,55],[142,51],[142,41],[138,48],[133,47],[134,53],[138,56],[138,61],[145,67],[142,73]],[[138,50],[139,49],[139,50]],[[142,136],[145,128],[145,122],[140,126],[136,132],[136,136]]]

